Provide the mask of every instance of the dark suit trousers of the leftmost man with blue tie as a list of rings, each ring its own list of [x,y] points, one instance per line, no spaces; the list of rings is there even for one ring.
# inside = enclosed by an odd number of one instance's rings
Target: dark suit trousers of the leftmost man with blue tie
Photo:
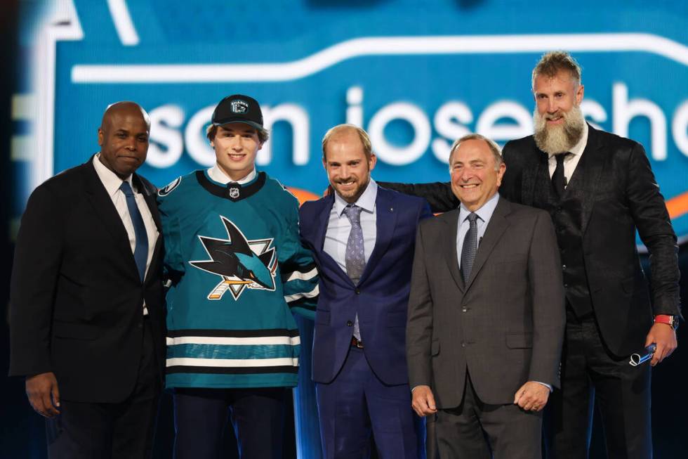
[[[50,459],[150,458],[161,384],[150,320],[143,324],[133,392],[121,403],[61,400],[60,415],[46,420]]]

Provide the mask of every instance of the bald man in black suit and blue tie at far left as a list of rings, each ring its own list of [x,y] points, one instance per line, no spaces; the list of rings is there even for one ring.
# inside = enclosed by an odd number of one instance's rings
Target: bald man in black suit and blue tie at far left
[[[150,121],[110,105],[100,153],[29,198],[10,299],[10,375],[46,417],[51,458],[150,456],[164,365],[155,189],[135,170]]]

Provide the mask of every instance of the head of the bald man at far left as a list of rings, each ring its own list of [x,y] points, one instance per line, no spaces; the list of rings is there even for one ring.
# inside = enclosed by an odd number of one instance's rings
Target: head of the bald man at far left
[[[125,180],[146,160],[149,131],[145,112],[138,105],[112,105],[98,128],[100,162]]]

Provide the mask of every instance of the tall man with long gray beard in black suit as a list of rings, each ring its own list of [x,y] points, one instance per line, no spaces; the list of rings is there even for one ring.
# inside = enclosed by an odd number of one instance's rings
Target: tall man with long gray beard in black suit
[[[649,458],[650,370],[629,366],[628,356],[655,343],[655,366],[677,347],[676,236],[644,149],[587,124],[583,91],[568,53],[543,56],[533,70],[535,134],[504,146],[500,192],[550,213],[562,257],[567,330],[562,389],[545,418],[548,457],[587,457],[597,395],[609,457]],[[448,184],[381,185],[422,195],[435,212],[457,205]],[[650,254],[651,292],[636,230]]]

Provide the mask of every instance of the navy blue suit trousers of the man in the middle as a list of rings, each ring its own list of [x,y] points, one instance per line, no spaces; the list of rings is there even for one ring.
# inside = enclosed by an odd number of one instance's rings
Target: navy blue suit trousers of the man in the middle
[[[425,456],[422,426],[411,409],[409,384],[388,386],[370,368],[362,349],[350,348],[333,382],[315,386],[323,457],[361,459],[370,455],[371,431],[381,459]]]

